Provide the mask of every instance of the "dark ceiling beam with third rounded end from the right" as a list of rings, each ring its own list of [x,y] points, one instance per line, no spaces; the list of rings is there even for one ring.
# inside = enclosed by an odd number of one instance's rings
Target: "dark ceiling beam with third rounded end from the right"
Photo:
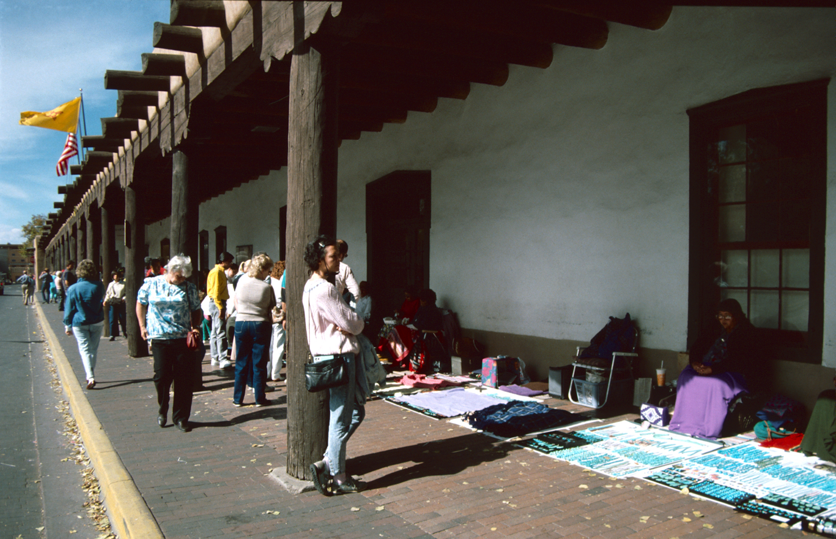
[[[402,18],[367,26],[354,42],[533,68],[548,68],[553,59],[548,43],[466,29],[455,31]]]

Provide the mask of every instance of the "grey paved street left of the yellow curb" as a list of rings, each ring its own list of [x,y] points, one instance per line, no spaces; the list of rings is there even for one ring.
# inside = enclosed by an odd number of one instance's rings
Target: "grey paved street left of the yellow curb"
[[[81,467],[64,432],[64,398],[53,389],[38,317],[19,286],[0,296],[0,536],[99,536],[86,514]],[[47,305],[54,308],[54,305]]]

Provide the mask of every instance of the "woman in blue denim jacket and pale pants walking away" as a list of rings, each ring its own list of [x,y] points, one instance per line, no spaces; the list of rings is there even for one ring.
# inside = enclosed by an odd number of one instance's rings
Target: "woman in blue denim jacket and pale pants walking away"
[[[92,260],[85,258],[79,262],[76,273],[78,280],[67,290],[64,333],[75,335],[87,377],[87,389],[93,389],[96,384],[96,354],[99,352],[99,340],[104,328],[104,286],[99,281],[99,272]]]

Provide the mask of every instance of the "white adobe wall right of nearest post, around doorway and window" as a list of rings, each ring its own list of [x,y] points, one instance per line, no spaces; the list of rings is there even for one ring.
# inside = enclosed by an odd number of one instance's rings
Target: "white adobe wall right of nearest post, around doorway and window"
[[[432,114],[345,140],[338,235],[355,274],[366,274],[364,185],[431,170],[431,287],[463,327],[588,340],[630,312],[644,347],[686,348],[686,109],[832,76],[834,27],[831,9],[677,7],[657,32],[609,24],[601,50],[557,47],[548,69],[512,66],[502,88],[473,84],[465,101],[440,99]],[[829,95],[833,135],[833,84]]]

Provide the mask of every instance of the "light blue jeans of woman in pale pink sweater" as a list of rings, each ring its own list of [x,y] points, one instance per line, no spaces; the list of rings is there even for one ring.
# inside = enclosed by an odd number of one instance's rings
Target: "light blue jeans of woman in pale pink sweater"
[[[345,448],[349,443],[349,438],[365,417],[365,407],[357,404],[354,399],[357,358],[353,353],[344,354],[344,358],[345,367],[349,370],[349,383],[329,389],[328,405],[331,414],[328,422],[328,447],[325,449],[325,460],[328,460],[331,475],[345,472]]]

